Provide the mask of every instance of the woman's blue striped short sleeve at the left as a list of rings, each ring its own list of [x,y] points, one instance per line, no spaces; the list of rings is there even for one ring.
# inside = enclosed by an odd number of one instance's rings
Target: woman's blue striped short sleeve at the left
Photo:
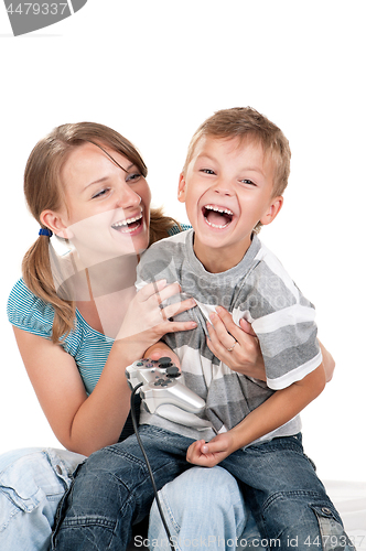
[[[51,337],[54,309],[32,293],[22,278],[11,290],[7,312],[9,322],[15,327]]]

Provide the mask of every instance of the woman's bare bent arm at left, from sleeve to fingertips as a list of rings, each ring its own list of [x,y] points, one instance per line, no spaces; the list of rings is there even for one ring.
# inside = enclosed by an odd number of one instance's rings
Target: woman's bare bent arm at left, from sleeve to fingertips
[[[176,285],[161,285],[160,295],[175,294]],[[118,441],[130,409],[126,367],[165,333],[187,331],[193,322],[170,322],[171,310],[160,309],[157,288],[136,294],[126,313],[100,378],[87,396],[74,358],[58,344],[14,327],[19,350],[40,404],[60,442],[84,455]],[[174,309],[192,307],[191,301]],[[125,323],[126,322],[126,323]]]

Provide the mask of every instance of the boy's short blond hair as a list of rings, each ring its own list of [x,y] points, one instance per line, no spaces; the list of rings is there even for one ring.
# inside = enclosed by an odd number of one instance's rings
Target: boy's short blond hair
[[[183,166],[185,173],[195,148],[203,137],[252,139],[261,144],[274,165],[273,197],[282,195],[290,175],[291,150],[288,139],[273,122],[251,107],[222,109],[206,119],[193,134]]]

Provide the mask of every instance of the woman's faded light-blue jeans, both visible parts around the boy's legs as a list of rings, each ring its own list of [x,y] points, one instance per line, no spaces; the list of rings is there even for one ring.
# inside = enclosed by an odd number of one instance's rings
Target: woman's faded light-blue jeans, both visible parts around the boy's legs
[[[73,472],[84,460],[83,455],[65,450],[42,447],[0,455],[1,551],[49,549],[58,503],[65,488],[71,486]],[[187,477],[185,473],[182,474],[161,490],[165,491],[166,507],[170,509],[165,517],[171,522],[171,533],[176,540],[189,534],[194,541],[193,529],[203,541],[215,533],[217,550],[225,549],[223,542],[228,542],[233,548],[232,542],[236,540],[247,541],[250,537],[257,537],[258,540],[255,521],[247,518],[241,493],[227,471],[218,466],[209,469],[195,467],[187,474]],[[193,494],[195,507],[192,507]],[[201,510],[201,504],[206,504],[207,499],[211,503],[209,516],[196,522],[195,510]],[[177,528],[180,533],[176,532]],[[159,539],[162,549],[168,549],[155,505],[150,512],[150,531],[148,541]],[[134,549],[146,549],[142,548],[146,536],[134,536]]]

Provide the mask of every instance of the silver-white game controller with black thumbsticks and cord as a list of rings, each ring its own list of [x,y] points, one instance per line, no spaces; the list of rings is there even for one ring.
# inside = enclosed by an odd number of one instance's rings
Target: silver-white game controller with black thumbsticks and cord
[[[149,413],[166,403],[191,413],[201,413],[205,408],[205,401],[184,386],[183,374],[169,357],[139,359],[126,368],[126,376],[132,390],[142,382],[140,397]]]

